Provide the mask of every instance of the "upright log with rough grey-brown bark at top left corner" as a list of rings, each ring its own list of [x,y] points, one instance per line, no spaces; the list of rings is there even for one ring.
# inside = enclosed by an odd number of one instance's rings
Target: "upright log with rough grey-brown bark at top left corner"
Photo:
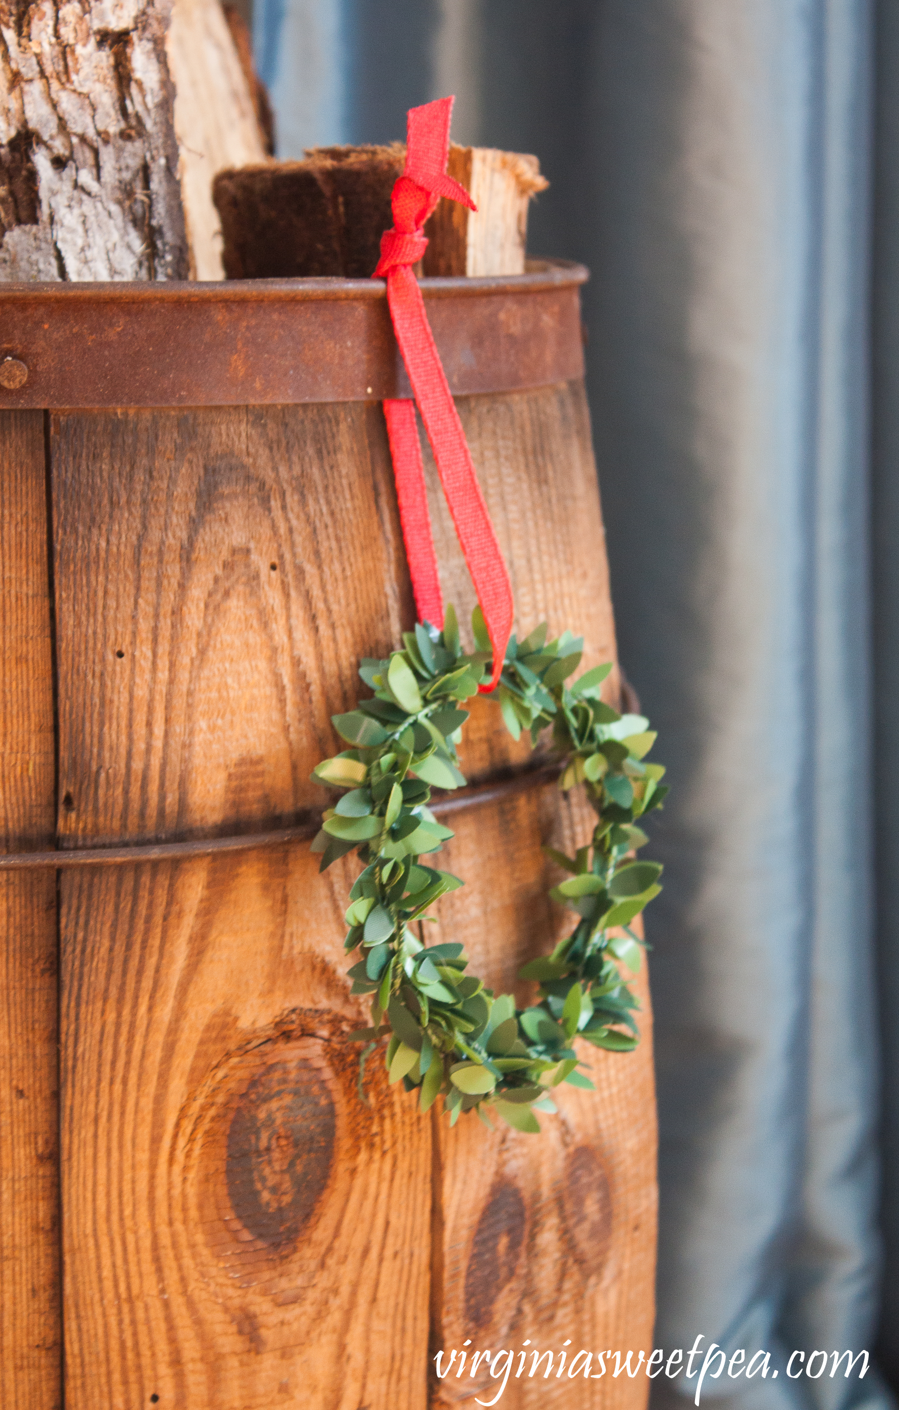
[[[166,0],[0,6],[0,279],[178,279]]]

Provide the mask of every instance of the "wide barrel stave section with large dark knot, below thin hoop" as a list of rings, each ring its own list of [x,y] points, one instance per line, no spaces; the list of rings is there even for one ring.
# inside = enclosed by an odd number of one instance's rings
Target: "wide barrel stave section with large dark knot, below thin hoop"
[[[431,1134],[383,1066],[358,1100],[345,880],[66,878],[66,1406],[423,1410]]]

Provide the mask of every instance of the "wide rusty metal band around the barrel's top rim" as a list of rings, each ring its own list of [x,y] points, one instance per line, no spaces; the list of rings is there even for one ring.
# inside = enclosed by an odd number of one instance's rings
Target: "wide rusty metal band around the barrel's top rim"
[[[582,376],[585,279],[586,269],[564,261],[506,278],[423,279],[454,395]],[[27,361],[27,382],[10,385],[0,374],[4,406],[266,406],[411,395],[382,279],[7,283],[0,319],[7,345]]]

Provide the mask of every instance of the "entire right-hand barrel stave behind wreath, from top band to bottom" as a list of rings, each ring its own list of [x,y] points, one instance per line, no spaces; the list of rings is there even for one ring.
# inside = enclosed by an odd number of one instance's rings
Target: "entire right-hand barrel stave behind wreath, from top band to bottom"
[[[583,388],[564,385],[459,403],[490,516],[509,564],[520,633],[548,620],[552,634],[583,633],[583,667],[616,660],[602,513]],[[455,533],[428,465],[430,506],[445,598],[473,595]],[[609,677],[617,701],[617,670]],[[488,701],[473,706],[462,767],[479,777],[530,753],[514,744]],[[574,916],[547,895],[559,880],[542,846],[569,854],[588,842],[595,818],[558,792],[512,798],[478,818],[461,815],[444,864],[466,878],[441,902],[434,942],[464,940],[473,973],[497,993],[533,1000],[520,966],[571,931]],[[621,1351],[652,1338],[655,1270],[655,1103],[651,1017],[643,981],[643,1041],[630,1055],[583,1045],[597,1094],[561,1089],[558,1117],[541,1117],[542,1135],[510,1129],[490,1135],[473,1118],[450,1129],[438,1121],[440,1189],[433,1280],[433,1352],[445,1348],[531,1348],[523,1379],[503,1404],[565,1404],[640,1410],[648,1380],[612,1375],[583,1379],[555,1369],[528,1378],[533,1348]],[[564,1348],[571,1338],[571,1345]],[[445,1361],[445,1358],[444,1358]],[[458,1363],[458,1362],[457,1362]],[[581,1369],[583,1359],[581,1361]],[[473,1404],[493,1385],[471,1365],[434,1386],[434,1404]],[[593,1362],[593,1371],[597,1362]],[[495,1386],[497,1389],[497,1386]]]

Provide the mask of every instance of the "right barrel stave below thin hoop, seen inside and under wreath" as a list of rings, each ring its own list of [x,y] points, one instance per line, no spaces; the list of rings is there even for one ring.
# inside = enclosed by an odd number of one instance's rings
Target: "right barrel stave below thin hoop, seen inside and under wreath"
[[[589,809],[550,791],[510,799],[493,818],[461,816],[445,864],[459,876],[492,878],[492,885],[486,880],[476,895],[466,884],[447,897],[434,942],[464,939],[472,969],[488,984],[531,1001],[533,986],[517,980],[519,966],[545,953],[576,919],[550,902],[547,887],[559,877],[547,874],[540,847],[572,852],[590,826]],[[433,1383],[435,1407],[473,1407],[476,1396],[493,1397],[500,1382],[489,1368],[482,1362],[471,1375],[471,1355],[485,1349],[514,1352],[503,1406],[640,1410],[645,1403],[643,1371],[614,1379],[612,1365],[600,1376],[596,1355],[620,1351],[623,1359],[633,1351],[636,1362],[652,1348],[655,1103],[645,974],[637,987],[640,1048],[619,1055],[579,1043],[597,1090],[555,1089],[559,1112],[540,1117],[540,1136],[502,1122],[492,1135],[472,1117],[452,1129],[445,1118],[434,1121],[441,1196],[431,1352],[444,1351],[445,1369],[457,1351],[450,1376]],[[528,1375],[534,1351],[552,1352],[548,1379],[545,1358]],[[562,1351],[568,1366],[576,1352],[592,1352],[588,1378],[585,1358],[574,1379],[566,1371],[557,1375]]]

